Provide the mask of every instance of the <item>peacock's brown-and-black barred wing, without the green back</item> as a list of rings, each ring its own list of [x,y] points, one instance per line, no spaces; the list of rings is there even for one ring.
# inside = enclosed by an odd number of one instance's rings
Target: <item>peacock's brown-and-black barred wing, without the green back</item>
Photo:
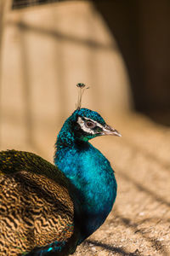
[[[68,189],[33,172],[0,175],[0,255],[17,255],[73,234]]]

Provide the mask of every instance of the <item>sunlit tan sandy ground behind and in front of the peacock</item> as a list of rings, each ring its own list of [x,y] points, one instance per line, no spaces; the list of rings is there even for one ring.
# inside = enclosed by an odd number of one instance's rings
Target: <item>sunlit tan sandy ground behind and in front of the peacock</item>
[[[74,255],[170,255],[170,128],[135,113],[109,120],[122,137],[99,137],[93,144],[115,169],[116,203],[105,224]],[[42,132],[41,141],[46,148],[39,150],[20,145],[22,134],[17,128],[20,137],[15,147],[14,127],[8,121],[3,124],[3,149],[31,150],[49,159],[54,148],[47,149],[47,131]],[[54,134],[50,139],[54,141]]]

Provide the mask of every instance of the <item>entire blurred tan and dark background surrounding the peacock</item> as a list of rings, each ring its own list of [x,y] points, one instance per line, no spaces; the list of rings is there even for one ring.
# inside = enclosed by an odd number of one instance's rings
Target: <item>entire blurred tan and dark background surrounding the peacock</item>
[[[0,1],[0,148],[52,161],[87,84],[82,106],[122,132],[93,142],[120,189],[76,255],[169,255],[169,1]]]

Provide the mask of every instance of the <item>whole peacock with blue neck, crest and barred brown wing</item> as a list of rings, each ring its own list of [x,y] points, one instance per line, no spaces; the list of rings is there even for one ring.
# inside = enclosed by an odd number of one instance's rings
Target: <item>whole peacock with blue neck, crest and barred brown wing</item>
[[[0,152],[0,255],[65,256],[105,222],[116,200],[109,160],[88,141],[121,136],[99,113],[81,108],[65,120],[54,165],[37,154]]]

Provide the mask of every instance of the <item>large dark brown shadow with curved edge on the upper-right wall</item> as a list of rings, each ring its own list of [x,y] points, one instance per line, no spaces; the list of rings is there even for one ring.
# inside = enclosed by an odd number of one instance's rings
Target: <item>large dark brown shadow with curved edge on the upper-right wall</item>
[[[170,125],[170,2],[94,0],[127,65],[134,107]]]

